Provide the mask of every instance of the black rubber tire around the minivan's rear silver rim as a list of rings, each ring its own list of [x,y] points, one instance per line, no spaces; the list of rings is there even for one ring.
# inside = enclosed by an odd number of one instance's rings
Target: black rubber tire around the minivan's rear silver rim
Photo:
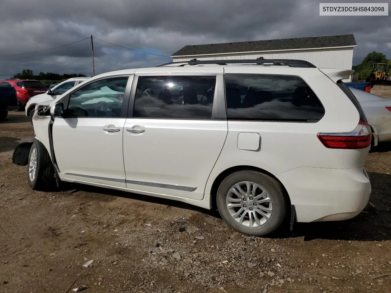
[[[226,205],[228,191],[235,184],[244,181],[253,182],[262,186],[262,188],[269,193],[269,197],[273,204],[273,211],[271,212],[270,218],[258,227],[248,227],[237,222],[231,216]],[[287,216],[288,205],[288,199],[285,196],[280,183],[261,172],[245,170],[231,173],[221,182],[219,189],[217,190],[217,208],[219,209],[222,219],[237,232],[253,236],[262,236],[275,232],[282,225]]]

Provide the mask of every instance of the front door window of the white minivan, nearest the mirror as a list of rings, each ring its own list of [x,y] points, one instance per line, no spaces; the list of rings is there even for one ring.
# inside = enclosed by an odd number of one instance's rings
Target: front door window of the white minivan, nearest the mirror
[[[78,89],[69,98],[69,117],[120,117],[128,77],[102,79]]]

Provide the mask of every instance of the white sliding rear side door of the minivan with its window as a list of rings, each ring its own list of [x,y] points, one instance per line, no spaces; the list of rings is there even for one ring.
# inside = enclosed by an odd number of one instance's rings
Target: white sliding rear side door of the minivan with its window
[[[226,119],[215,118],[221,110],[215,101],[216,78],[138,76],[132,89],[133,117],[124,127],[127,188],[203,198],[228,132]]]

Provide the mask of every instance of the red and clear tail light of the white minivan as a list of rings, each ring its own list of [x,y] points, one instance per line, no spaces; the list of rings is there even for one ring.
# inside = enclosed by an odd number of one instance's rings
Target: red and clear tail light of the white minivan
[[[364,121],[359,121],[351,132],[319,133],[317,135],[326,148],[358,149],[371,145],[371,127]]]

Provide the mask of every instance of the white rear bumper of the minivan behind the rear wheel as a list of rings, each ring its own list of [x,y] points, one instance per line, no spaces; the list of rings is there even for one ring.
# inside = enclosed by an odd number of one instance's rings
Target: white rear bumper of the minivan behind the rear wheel
[[[296,168],[277,175],[296,208],[298,222],[347,220],[361,213],[371,193],[364,167]]]

